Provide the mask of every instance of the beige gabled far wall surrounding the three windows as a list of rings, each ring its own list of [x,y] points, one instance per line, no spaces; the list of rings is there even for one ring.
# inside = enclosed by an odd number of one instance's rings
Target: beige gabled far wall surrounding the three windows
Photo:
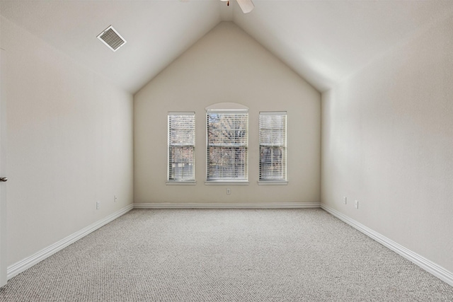
[[[320,93],[233,23],[220,23],[134,95],[137,203],[319,202]],[[249,110],[249,185],[205,185],[205,108]],[[287,111],[288,185],[258,186],[258,112]],[[197,185],[166,185],[167,112],[195,111]]]

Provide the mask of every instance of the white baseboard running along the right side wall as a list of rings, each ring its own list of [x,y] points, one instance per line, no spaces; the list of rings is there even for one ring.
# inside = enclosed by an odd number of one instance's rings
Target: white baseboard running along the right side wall
[[[407,260],[413,262],[415,265],[418,265],[419,267],[425,269],[425,271],[441,279],[445,283],[453,286],[453,272],[449,272],[447,269],[441,267],[440,265],[437,265],[435,262],[432,262],[426,259],[425,257],[418,255],[416,252],[413,252],[408,248],[404,248],[402,245],[399,245],[393,240],[386,238],[382,234],[373,231],[371,228],[364,226],[362,223],[359,223],[354,219],[350,219],[348,216],[340,213],[336,209],[332,209],[331,207],[328,207],[325,204],[321,204],[321,209],[327,211],[333,216],[336,216],[338,219],[344,221],[345,223],[348,223],[353,228],[356,228],[358,231],[364,233],[368,237],[381,243],[386,248],[393,250],[398,255],[405,257]]]

